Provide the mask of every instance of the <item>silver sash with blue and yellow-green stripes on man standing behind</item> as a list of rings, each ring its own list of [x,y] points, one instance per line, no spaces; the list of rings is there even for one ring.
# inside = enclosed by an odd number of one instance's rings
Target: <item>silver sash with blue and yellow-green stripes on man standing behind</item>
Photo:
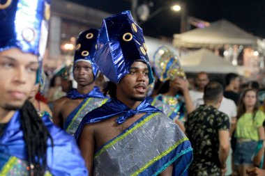
[[[74,135],[84,115],[105,104],[107,100],[107,98],[86,97],[83,102],[68,115],[63,129],[65,129],[68,134]]]

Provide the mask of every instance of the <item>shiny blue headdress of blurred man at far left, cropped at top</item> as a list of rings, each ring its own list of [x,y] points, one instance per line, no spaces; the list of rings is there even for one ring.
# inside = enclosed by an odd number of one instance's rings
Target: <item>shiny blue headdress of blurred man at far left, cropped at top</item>
[[[18,48],[43,58],[50,19],[50,0],[0,3],[0,51]]]

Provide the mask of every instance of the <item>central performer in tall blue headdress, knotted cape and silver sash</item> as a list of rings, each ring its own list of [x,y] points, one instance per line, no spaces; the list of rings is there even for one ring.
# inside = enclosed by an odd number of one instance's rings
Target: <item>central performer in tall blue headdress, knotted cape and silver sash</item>
[[[86,114],[75,138],[93,175],[183,175],[190,141],[145,101],[153,74],[142,29],[129,11],[107,17],[95,61],[111,81],[109,102]]]

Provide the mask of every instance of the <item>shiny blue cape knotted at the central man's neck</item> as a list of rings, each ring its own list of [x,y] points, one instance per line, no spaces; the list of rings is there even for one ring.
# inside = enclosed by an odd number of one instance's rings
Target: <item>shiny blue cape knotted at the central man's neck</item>
[[[146,100],[144,100],[136,109],[129,109],[128,106],[120,102],[118,99],[109,99],[109,102],[103,104],[97,109],[87,113],[82,122],[80,123],[77,131],[75,132],[75,139],[79,138],[79,135],[82,132],[84,125],[89,123],[96,123],[102,120],[107,120],[113,118],[114,116],[120,115],[116,119],[118,124],[125,122],[132,115],[139,113],[156,113],[161,112],[159,109],[156,109],[154,106],[151,106]]]

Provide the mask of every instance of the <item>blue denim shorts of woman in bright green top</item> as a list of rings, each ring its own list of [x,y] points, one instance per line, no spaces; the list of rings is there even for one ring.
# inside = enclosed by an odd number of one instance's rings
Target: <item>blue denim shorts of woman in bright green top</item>
[[[252,164],[257,141],[236,141],[236,150],[234,151],[234,164]]]

